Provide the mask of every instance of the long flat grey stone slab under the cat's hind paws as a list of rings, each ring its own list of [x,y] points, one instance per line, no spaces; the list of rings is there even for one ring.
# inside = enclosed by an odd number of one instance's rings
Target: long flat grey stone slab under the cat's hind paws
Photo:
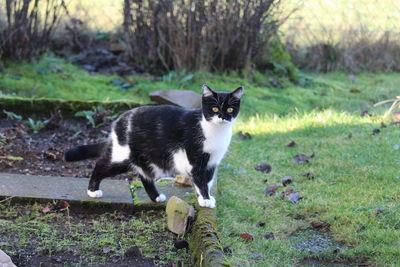
[[[130,184],[127,181],[104,179],[100,185],[103,190],[102,198],[90,198],[86,191],[88,178],[36,176],[24,174],[0,173],[0,198],[24,198],[24,199],[55,199],[67,201],[81,201],[99,204],[124,204],[135,206],[138,209],[158,209],[165,206],[152,202],[144,188],[135,186],[135,203],[132,199]],[[183,187],[173,182],[157,184],[160,192],[168,198],[178,196],[187,197],[191,187]],[[141,207],[142,206],[142,207]]]

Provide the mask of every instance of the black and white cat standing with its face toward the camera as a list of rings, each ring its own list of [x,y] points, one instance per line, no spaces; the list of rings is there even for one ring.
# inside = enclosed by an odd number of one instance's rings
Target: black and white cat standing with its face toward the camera
[[[98,158],[88,195],[102,197],[103,178],[133,170],[150,199],[164,202],[154,181],[181,174],[191,177],[201,207],[215,208],[210,188],[215,170],[232,137],[243,88],[215,92],[203,85],[202,108],[142,106],[123,113],[111,126],[104,143],[83,145],[65,153],[66,161]]]

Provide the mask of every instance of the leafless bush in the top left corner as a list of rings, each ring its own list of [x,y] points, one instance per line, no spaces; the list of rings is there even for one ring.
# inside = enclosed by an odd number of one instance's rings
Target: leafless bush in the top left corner
[[[0,57],[31,59],[46,51],[66,13],[64,0],[6,0],[0,4]]]

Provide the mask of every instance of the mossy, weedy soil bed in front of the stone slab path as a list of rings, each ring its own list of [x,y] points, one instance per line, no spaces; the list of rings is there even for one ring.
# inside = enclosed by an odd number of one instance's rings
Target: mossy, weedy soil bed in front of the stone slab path
[[[55,212],[49,209],[52,205],[0,204],[0,246],[18,266],[39,264],[43,255],[46,263],[54,258],[71,266],[117,264],[133,247],[157,265],[189,262],[185,250],[174,248],[175,236],[166,229],[163,211],[91,214]]]

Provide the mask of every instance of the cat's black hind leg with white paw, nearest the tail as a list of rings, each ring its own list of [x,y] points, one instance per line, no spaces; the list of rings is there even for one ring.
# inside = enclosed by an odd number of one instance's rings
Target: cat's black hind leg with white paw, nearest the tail
[[[117,174],[127,172],[129,170],[128,163],[109,163],[108,160],[100,159],[96,162],[96,166],[89,180],[87,194],[92,198],[100,198],[103,191],[100,190],[100,183],[106,177],[112,177]]]

